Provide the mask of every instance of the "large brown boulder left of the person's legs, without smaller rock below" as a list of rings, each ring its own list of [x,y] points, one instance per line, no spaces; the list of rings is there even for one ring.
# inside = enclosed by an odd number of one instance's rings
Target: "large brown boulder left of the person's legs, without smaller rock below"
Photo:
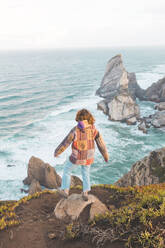
[[[36,179],[46,188],[58,188],[61,185],[61,177],[55,169],[41,159],[32,156],[28,163],[28,176],[24,179],[24,184],[31,184]]]

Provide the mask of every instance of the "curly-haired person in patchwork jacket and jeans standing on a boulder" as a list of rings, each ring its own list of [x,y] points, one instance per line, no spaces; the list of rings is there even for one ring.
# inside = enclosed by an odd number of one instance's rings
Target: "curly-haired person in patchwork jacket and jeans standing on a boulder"
[[[88,191],[90,185],[90,165],[94,161],[95,142],[102,154],[105,162],[108,162],[109,155],[99,131],[95,128],[95,119],[87,109],[82,109],[77,112],[76,119],[78,124],[65,137],[62,143],[56,148],[54,156],[58,157],[72,143],[72,153],[65,163],[61,190],[58,192],[65,198],[69,195],[71,170],[73,165],[81,166],[83,179],[83,200],[88,200]]]

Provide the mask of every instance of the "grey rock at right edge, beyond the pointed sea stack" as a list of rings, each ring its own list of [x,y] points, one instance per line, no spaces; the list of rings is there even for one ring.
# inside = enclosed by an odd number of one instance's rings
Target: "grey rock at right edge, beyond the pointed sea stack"
[[[144,100],[153,102],[165,102],[165,77],[153,83],[145,90]]]

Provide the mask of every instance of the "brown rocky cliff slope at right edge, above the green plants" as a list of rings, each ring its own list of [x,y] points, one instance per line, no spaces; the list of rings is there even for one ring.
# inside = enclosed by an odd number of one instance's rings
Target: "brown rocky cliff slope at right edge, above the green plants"
[[[115,185],[127,187],[165,182],[165,147],[137,161]]]

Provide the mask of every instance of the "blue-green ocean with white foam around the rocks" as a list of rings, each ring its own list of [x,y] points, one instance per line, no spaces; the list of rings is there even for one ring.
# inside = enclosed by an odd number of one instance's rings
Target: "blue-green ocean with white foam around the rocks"
[[[165,146],[163,131],[150,128],[146,135],[137,126],[109,121],[97,110],[101,98],[95,92],[108,60],[119,53],[142,88],[165,76],[164,47],[0,52],[0,200],[25,195],[20,188],[27,189],[22,180],[31,156],[62,175],[70,148],[59,158],[53,157],[54,149],[76,125],[81,108],[94,115],[110,155],[106,164],[96,150],[92,184],[114,183],[137,160]],[[155,111],[152,102],[138,103],[141,116]],[[73,173],[81,177],[80,168]]]

